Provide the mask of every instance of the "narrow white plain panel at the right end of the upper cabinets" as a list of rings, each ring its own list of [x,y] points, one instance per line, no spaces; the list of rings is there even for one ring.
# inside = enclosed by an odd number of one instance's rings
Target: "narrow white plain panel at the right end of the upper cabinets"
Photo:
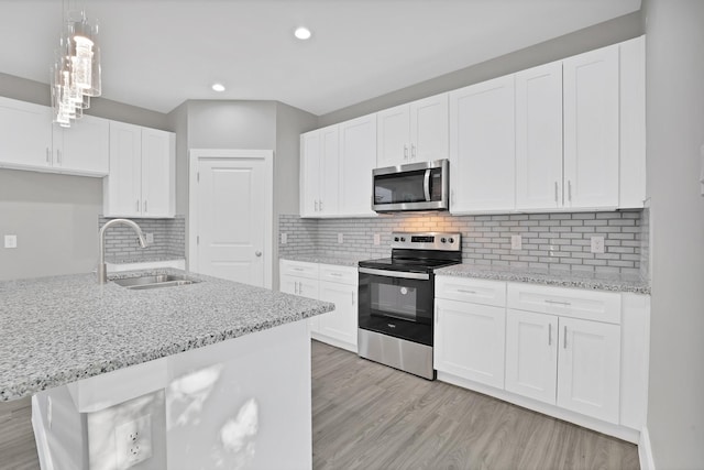
[[[620,185],[618,206],[646,199],[646,36],[620,43]]]

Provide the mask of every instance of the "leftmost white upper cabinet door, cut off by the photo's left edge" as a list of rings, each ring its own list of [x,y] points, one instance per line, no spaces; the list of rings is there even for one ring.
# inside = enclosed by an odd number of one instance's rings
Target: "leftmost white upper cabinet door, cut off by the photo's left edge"
[[[51,167],[51,108],[0,98],[0,165]]]

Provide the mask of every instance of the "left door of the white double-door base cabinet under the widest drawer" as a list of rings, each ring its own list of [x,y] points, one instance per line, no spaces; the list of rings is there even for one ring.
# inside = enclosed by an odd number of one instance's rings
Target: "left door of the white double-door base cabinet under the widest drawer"
[[[506,313],[506,390],[556,404],[558,317]]]

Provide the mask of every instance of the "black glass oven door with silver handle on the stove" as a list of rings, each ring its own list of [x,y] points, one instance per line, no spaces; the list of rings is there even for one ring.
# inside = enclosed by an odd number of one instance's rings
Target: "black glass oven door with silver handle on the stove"
[[[432,346],[433,284],[433,274],[360,267],[360,328]]]

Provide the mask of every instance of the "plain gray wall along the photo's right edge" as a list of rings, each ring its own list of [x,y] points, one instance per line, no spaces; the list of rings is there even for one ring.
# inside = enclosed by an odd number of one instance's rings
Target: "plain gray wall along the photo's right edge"
[[[704,2],[646,0],[652,304],[648,430],[658,469],[704,462]]]

